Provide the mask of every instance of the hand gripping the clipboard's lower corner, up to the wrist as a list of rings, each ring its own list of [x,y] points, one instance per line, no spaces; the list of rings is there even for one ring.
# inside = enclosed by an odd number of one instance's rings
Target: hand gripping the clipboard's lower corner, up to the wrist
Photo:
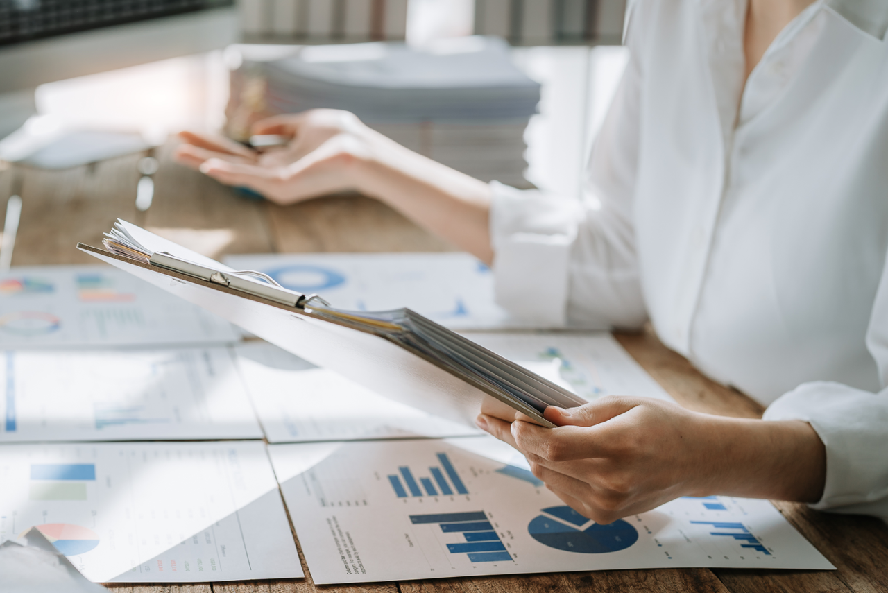
[[[478,423],[523,453],[534,475],[562,501],[599,523],[702,494],[705,477],[716,469],[707,466],[718,459],[707,426],[714,416],[628,397],[567,410],[547,407],[544,416],[558,426],[510,424],[489,415],[480,415]]]

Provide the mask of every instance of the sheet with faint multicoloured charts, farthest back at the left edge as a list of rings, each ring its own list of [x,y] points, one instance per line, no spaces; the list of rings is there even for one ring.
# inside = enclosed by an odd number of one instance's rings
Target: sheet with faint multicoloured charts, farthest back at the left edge
[[[238,336],[226,320],[108,265],[0,275],[0,348],[223,344]]]

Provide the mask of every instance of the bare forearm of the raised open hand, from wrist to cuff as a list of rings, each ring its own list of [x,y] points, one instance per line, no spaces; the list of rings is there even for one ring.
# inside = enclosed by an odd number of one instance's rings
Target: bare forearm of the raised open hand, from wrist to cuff
[[[369,130],[358,164],[359,191],[490,265],[490,187]]]

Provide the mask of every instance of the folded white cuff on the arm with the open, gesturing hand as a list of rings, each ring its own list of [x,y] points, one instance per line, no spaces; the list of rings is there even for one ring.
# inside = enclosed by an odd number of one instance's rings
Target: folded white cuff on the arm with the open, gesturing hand
[[[496,303],[518,320],[564,326],[580,204],[496,181],[490,187]]]

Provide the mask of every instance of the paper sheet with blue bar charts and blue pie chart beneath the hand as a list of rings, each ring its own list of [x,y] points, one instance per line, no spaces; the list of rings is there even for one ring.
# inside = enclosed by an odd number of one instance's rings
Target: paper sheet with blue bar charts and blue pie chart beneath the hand
[[[834,568],[767,501],[683,498],[598,525],[490,437],[269,451],[317,584],[691,566]]]

